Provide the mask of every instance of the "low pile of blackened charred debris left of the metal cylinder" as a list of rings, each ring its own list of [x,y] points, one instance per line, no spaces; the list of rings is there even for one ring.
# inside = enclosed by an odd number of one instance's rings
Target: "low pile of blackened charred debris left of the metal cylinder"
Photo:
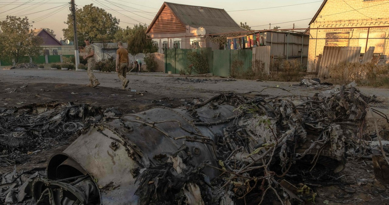
[[[34,103],[0,108],[0,166],[23,163],[26,156],[53,147],[101,119],[101,108],[86,104]]]

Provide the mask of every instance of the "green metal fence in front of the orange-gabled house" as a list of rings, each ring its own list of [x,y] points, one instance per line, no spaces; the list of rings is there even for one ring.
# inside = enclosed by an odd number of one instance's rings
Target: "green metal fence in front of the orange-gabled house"
[[[209,72],[216,76],[228,77],[231,74],[231,65],[234,61],[243,61],[243,67],[237,70],[239,73],[251,69],[252,51],[251,50],[214,50],[211,48],[200,49],[166,49],[165,51],[165,72],[171,71],[172,74],[178,74],[180,70],[189,65],[187,61],[187,52],[203,51],[207,56]]]

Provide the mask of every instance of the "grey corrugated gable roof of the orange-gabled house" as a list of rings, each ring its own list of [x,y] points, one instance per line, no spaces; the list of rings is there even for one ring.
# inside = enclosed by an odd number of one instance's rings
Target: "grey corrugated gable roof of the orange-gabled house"
[[[247,32],[224,9],[164,2],[149,28],[147,28],[146,33],[149,33],[151,27],[165,7],[172,11],[173,15],[179,19],[183,26],[188,25],[196,28],[202,26],[208,34]]]

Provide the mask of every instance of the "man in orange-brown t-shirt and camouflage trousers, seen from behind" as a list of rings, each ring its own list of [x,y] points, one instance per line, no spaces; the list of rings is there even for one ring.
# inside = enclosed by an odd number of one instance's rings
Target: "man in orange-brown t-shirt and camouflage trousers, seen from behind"
[[[123,81],[123,88],[125,89],[128,86],[128,82],[130,82],[128,79],[126,79],[126,73],[128,70],[128,51],[127,49],[123,48],[123,42],[119,41],[117,42],[117,46],[119,49],[116,51],[116,72],[117,76],[119,76],[119,79]]]

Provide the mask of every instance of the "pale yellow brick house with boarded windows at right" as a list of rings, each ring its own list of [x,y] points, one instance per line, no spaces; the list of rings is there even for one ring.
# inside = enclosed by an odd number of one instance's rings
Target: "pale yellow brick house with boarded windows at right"
[[[379,62],[389,61],[389,0],[324,0],[309,25],[309,62],[317,62],[324,46],[361,47],[361,58],[374,46]]]

